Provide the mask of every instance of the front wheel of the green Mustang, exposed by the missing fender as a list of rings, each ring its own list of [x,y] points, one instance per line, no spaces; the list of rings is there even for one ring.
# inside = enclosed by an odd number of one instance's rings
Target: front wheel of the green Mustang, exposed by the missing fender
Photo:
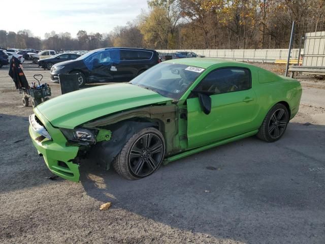
[[[114,159],[113,167],[126,179],[141,179],[154,173],[163,162],[164,156],[163,135],[157,129],[148,127],[125,143]]]

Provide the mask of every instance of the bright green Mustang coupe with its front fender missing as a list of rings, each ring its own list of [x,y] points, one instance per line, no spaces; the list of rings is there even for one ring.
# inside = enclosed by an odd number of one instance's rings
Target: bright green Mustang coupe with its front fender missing
[[[257,135],[281,138],[299,109],[298,81],[228,60],[182,58],[129,83],[78,90],[29,116],[29,134],[48,168],[79,180],[80,158],[139,179],[199,151]]]

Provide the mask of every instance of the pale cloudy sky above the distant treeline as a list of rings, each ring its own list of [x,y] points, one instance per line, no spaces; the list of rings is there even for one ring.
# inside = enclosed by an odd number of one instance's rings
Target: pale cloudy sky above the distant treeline
[[[80,29],[108,33],[135,19],[141,9],[147,10],[147,0],[0,0],[0,6],[4,8],[0,29],[30,29],[43,39],[51,31],[70,32],[72,37]],[[10,21],[12,14],[15,18]]]

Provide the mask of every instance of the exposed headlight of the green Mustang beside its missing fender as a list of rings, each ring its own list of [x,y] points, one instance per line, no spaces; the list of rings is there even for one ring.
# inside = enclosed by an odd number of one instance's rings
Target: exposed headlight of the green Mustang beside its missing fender
[[[64,136],[69,141],[78,142],[82,145],[95,144],[95,130],[87,130],[84,128],[71,129],[60,129]]]

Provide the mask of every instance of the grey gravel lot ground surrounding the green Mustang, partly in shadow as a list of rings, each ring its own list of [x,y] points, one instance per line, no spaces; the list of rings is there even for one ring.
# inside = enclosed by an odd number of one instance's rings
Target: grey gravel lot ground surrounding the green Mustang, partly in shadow
[[[24,67],[29,82],[50,82]],[[247,138],[137,181],[85,161],[76,184],[48,179],[28,136],[32,109],[0,69],[0,243],[325,243],[325,81],[299,80],[300,112],[275,143]]]

